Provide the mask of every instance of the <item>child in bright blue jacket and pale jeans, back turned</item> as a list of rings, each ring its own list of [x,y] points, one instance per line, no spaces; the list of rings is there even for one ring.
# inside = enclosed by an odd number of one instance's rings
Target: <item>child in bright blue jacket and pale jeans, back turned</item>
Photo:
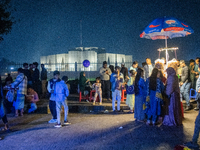
[[[60,111],[62,108],[62,105],[64,106],[64,125],[68,125],[70,124],[67,121],[67,115],[68,115],[68,106],[67,106],[67,96],[69,95],[69,90],[67,87],[67,82],[68,77],[67,76],[63,76],[62,77],[62,81],[57,82],[56,86],[55,86],[55,101],[56,101],[56,112],[57,112],[57,124],[55,125],[56,128],[60,128],[62,127],[61,123],[60,123]]]

